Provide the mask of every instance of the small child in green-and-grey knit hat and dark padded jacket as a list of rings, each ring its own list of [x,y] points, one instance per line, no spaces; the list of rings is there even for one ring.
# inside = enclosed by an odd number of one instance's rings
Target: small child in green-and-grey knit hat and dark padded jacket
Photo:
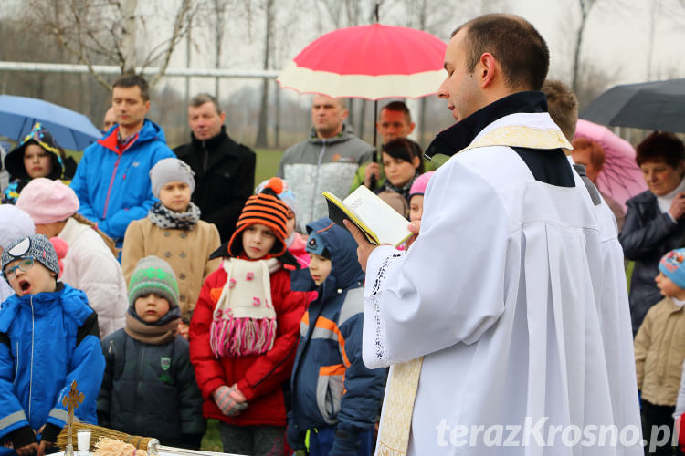
[[[107,365],[98,397],[100,425],[153,435],[163,445],[199,448],[202,396],[188,342],[177,335],[180,317],[174,270],[156,256],[142,258],[129,283],[126,324],[102,340]]]

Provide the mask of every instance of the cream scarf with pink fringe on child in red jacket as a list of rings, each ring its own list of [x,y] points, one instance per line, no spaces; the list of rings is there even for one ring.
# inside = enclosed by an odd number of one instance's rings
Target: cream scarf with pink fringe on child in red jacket
[[[276,338],[269,276],[280,268],[279,261],[227,258],[221,265],[228,277],[212,319],[212,352],[221,358],[269,351]]]

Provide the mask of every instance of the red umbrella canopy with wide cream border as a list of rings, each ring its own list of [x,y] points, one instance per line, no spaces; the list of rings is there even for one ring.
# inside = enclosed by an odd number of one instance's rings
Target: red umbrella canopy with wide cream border
[[[313,41],[277,81],[300,93],[332,98],[421,98],[445,78],[447,45],[427,32],[402,26],[351,26]]]

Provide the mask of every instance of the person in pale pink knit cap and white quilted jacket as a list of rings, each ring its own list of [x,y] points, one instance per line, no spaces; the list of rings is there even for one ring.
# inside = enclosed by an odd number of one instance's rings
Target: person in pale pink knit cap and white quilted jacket
[[[68,244],[62,281],[86,293],[98,313],[100,337],[123,327],[129,303],[114,243],[77,213],[76,193],[60,181],[37,178],[26,184],[16,206],[31,216],[36,233]]]

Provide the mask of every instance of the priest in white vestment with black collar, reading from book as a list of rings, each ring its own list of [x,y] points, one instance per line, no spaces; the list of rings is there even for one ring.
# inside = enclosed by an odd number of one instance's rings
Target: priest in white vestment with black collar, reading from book
[[[364,362],[391,367],[376,454],[642,454],[616,228],[561,150],[548,62],[519,17],[459,27],[420,235],[398,252],[350,227]]]

